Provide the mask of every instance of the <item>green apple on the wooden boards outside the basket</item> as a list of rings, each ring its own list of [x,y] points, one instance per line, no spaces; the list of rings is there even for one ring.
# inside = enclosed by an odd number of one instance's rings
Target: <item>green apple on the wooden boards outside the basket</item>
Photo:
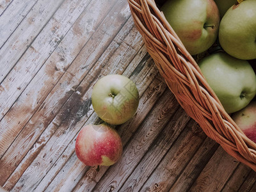
[[[93,86],[92,105],[95,113],[109,124],[124,124],[139,104],[136,85],[121,75],[104,76]]]

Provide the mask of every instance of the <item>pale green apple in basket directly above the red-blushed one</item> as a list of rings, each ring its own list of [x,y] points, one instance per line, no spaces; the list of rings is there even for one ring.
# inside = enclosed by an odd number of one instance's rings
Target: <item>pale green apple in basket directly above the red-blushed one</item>
[[[198,66],[227,113],[244,108],[256,95],[256,76],[248,61],[217,52]]]

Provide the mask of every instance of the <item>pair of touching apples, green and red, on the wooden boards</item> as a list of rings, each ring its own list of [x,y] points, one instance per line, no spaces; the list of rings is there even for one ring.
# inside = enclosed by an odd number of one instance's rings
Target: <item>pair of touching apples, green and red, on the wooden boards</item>
[[[76,138],[76,156],[87,166],[110,166],[122,156],[122,140],[113,125],[134,116],[139,104],[136,85],[128,77],[104,76],[93,86],[92,106],[104,121],[84,125]]]

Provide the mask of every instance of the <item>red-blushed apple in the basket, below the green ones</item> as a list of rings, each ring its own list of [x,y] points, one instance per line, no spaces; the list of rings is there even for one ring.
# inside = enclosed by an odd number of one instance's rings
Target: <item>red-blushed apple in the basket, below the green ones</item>
[[[242,129],[244,134],[256,143],[256,101],[232,115],[234,122]]]

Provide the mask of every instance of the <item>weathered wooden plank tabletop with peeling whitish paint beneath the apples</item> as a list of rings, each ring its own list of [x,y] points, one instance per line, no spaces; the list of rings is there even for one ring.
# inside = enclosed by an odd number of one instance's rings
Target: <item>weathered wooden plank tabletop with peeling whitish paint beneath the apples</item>
[[[126,0],[6,0],[0,6],[0,186],[11,191],[256,191],[256,173],[207,138],[168,90]],[[85,166],[74,152],[100,119],[93,84],[136,83],[124,153]]]

